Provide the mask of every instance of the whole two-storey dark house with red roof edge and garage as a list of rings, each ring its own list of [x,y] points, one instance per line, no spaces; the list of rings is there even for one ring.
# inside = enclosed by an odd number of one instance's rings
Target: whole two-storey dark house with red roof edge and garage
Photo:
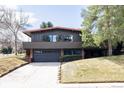
[[[50,27],[24,31],[31,42],[23,42],[26,57],[32,62],[59,62],[63,55],[82,55],[80,29]]]

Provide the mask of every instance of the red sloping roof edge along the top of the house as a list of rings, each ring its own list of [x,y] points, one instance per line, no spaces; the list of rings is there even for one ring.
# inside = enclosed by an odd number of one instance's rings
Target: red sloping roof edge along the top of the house
[[[30,36],[32,32],[43,32],[43,31],[49,31],[49,30],[54,30],[54,29],[62,29],[62,30],[68,30],[68,31],[79,31],[81,32],[81,29],[76,29],[76,28],[67,28],[67,27],[49,27],[49,28],[44,28],[44,29],[31,29],[31,30],[24,30],[23,33]]]

